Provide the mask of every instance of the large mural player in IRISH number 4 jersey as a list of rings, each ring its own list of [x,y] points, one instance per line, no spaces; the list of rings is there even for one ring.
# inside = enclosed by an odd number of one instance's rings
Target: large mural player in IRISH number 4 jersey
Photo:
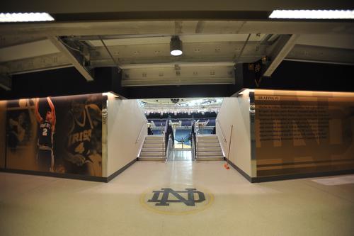
[[[65,172],[102,176],[101,144],[102,111],[86,99],[72,99],[67,117],[67,144],[64,157]]]

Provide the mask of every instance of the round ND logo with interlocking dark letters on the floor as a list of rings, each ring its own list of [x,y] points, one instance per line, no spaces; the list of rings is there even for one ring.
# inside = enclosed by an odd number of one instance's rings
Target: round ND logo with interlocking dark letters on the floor
[[[149,189],[140,198],[145,208],[170,215],[196,213],[209,207],[213,201],[211,193],[191,186]]]

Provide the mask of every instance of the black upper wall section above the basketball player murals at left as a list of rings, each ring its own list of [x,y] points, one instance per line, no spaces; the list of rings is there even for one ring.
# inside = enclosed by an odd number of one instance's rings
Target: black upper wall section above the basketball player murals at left
[[[97,68],[93,71],[93,76],[95,80],[87,82],[74,67],[16,74],[12,77],[12,90],[1,89],[0,99],[93,94],[105,91],[122,93],[117,68]]]

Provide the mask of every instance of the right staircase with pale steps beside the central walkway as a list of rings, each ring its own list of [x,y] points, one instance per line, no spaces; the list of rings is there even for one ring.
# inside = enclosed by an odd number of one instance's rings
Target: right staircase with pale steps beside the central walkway
[[[219,161],[224,159],[217,135],[197,135],[197,160]]]

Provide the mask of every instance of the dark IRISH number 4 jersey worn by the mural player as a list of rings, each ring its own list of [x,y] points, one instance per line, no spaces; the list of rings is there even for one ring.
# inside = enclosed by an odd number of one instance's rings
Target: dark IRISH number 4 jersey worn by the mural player
[[[68,150],[71,154],[81,154],[85,157],[85,159],[89,159],[91,150],[91,135],[93,130],[89,112],[86,108],[84,109],[84,118],[82,123],[76,120],[73,115],[72,120],[72,130],[69,133],[67,142]]]

